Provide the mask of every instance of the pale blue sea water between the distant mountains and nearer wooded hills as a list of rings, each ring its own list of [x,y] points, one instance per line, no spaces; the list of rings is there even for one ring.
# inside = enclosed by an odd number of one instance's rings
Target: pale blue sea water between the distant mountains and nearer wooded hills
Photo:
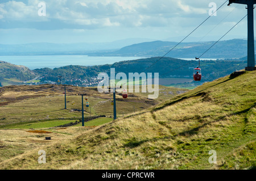
[[[15,65],[24,65],[29,69],[59,68],[67,65],[105,65],[119,61],[138,60],[147,57],[90,57],[85,55],[30,55],[30,56],[0,56],[0,61]]]

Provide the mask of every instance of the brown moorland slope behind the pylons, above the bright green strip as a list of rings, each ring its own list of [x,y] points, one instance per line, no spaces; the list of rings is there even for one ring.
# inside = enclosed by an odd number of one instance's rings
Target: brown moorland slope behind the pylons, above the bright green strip
[[[117,93],[117,116],[142,111],[188,91],[164,86],[159,86],[159,89],[159,97],[154,100],[147,98],[149,93],[129,94],[129,99],[122,99],[122,94]],[[64,86],[62,85],[0,87],[0,129],[20,122],[29,123],[49,119],[77,120],[81,118],[81,111],[79,111],[81,110],[81,96],[79,94],[85,92],[88,94],[90,103],[90,109],[84,107],[85,116],[90,116],[90,113],[92,116],[113,116],[111,106],[113,94],[100,94],[97,87],[67,86],[67,110],[64,110]]]

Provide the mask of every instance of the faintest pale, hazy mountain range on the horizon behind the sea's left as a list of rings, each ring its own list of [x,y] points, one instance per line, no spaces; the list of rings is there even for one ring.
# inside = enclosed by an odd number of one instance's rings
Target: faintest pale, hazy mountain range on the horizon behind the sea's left
[[[0,44],[0,55],[35,55],[35,54],[88,54],[94,52],[109,52],[127,45],[152,41],[152,39],[124,39],[106,43],[30,43],[30,44]]]

